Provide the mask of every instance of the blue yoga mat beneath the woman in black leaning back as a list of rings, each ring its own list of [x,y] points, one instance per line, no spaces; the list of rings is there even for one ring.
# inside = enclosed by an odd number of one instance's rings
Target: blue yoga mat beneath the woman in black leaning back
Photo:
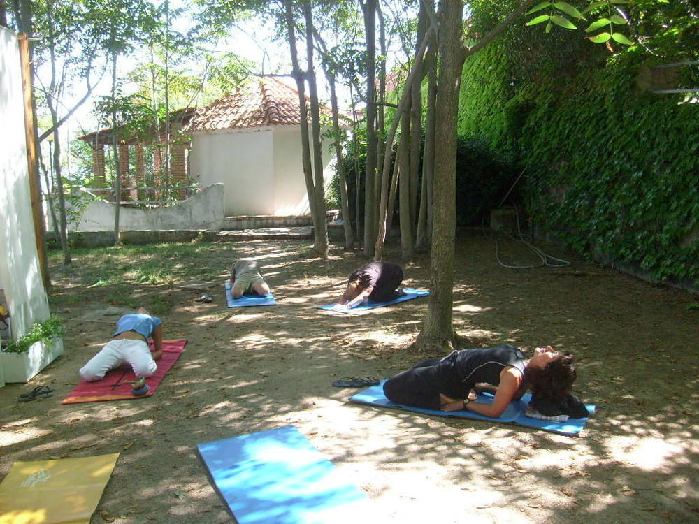
[[[526,407],[529,403],[529,400],[531,400],[531,393],[526,393],[526,395],[523,395],[521,400],[513,400],[512,402],[510,402],[510,405],[507,406],[505,412],[502,415],[500,415],[497,419],[494,419],[491,416],[484,416],[474,412],[442,412],[436,409],[422,409],[420,407],[406,406],[402,404],[396,404],[395,402],[391,402],[386,398],[386,396],[384,395],[383,388],[383,383],[385,381],[386,380],[384,379],[381,382],[381,384],[378,384],[377,386],[371,386],[370,388],[365,389],[361,393],[357,393],[356,395],[350,397],[349,400],[352,400],[352,402],[370,404],[377,407],[399,407],[403,409],[408,409],[408,411],[411,412],[423,413],[428,415],[452,416],[458,417],[460,419],[476,419],[480,421],[518,424],[524,425],[527,428],[536,428],[539,430],[560,433],[561,435],[579,435],[582,428],[585,427],[585,423],[587,421],[587,419],[568,419],[565,422],[559,422],[532,419],[531,417],[526,416],[524,414],[526,412]],[[486,402],[489,404],[492,401],[493,396],[488,395],[487,393],[482,393],[478,396],[478,402]],[[587,404],[585,405],[585,407],[587,408],[587,411],[591,414],[595,412],[595,405]]]

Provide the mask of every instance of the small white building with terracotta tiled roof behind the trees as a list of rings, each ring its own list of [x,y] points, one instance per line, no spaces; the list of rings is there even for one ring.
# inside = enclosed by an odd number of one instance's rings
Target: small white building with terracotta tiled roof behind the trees
[[[322,106],[322,116],[330,117]],[[218,99],[185,126],[192,145],[189,176],[224,184],[226,216],[310,214],[301,158],[298,92],[277,78],[256,78]],[[310,126],[309,126],[310,133]],[[333,170],[323,139],[324,180]]]

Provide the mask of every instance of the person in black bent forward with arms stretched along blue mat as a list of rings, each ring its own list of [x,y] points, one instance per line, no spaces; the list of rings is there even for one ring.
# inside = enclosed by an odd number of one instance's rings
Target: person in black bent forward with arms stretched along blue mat
[[[398,286],[403,282],[403,268],[393,262],[370,262],[349,275],[347,289],[333,309],[351,309],[367,298],[389,302],[405,293]]]

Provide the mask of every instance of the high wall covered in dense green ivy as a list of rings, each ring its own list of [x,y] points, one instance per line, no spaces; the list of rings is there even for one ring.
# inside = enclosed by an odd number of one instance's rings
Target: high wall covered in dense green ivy
[[[698,285],[699,103],[639,89],[647,63],[575,31],[513,27],[466,61],[459,134],[517,154],[542,231],[580,254]],[[699,87],[699,75],[687,82]]]

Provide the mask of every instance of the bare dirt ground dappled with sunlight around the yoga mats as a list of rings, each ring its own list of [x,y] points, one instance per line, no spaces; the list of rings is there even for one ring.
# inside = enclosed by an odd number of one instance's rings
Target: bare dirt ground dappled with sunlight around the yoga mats
[[[428,299],[361,316],[317,310],[364,260],[340,245],[315,259],[309,247],[251,240],[202,255],[194,263],[219,268],[202,275],[216,282],[212,303],[175,286],[134,290],[159,294],[170,307],[165,337],[189,342],[157,393],[121,402],[60,404],[110,336],[119,298],[53,268],[65,353],[29,384],[0,388],[0,478],[15,460],[120,452],[92,523],[230,523],[196,444],[294,425],[368,496],[356,521],[699,522],[696,296],[551,246],[541,247],[572,265],[506,269],[493,242],[459,235],[454,323],[470,347],[552,344],[579,357],[575,393],[598,411],[582,435],[564,437],[347,402],[358,390],[334,379],[389,377],[424,358],[409,347]],[[242,256],[261,259],[278,305],[226,307],[226,270]],[[510,244],[500,257],[532,261]],[[384,258],[396,260],[395,248]],[[405,275],[406,286],[428,288],[428,256]],[[54,396],[16,402],[38,384]]]

